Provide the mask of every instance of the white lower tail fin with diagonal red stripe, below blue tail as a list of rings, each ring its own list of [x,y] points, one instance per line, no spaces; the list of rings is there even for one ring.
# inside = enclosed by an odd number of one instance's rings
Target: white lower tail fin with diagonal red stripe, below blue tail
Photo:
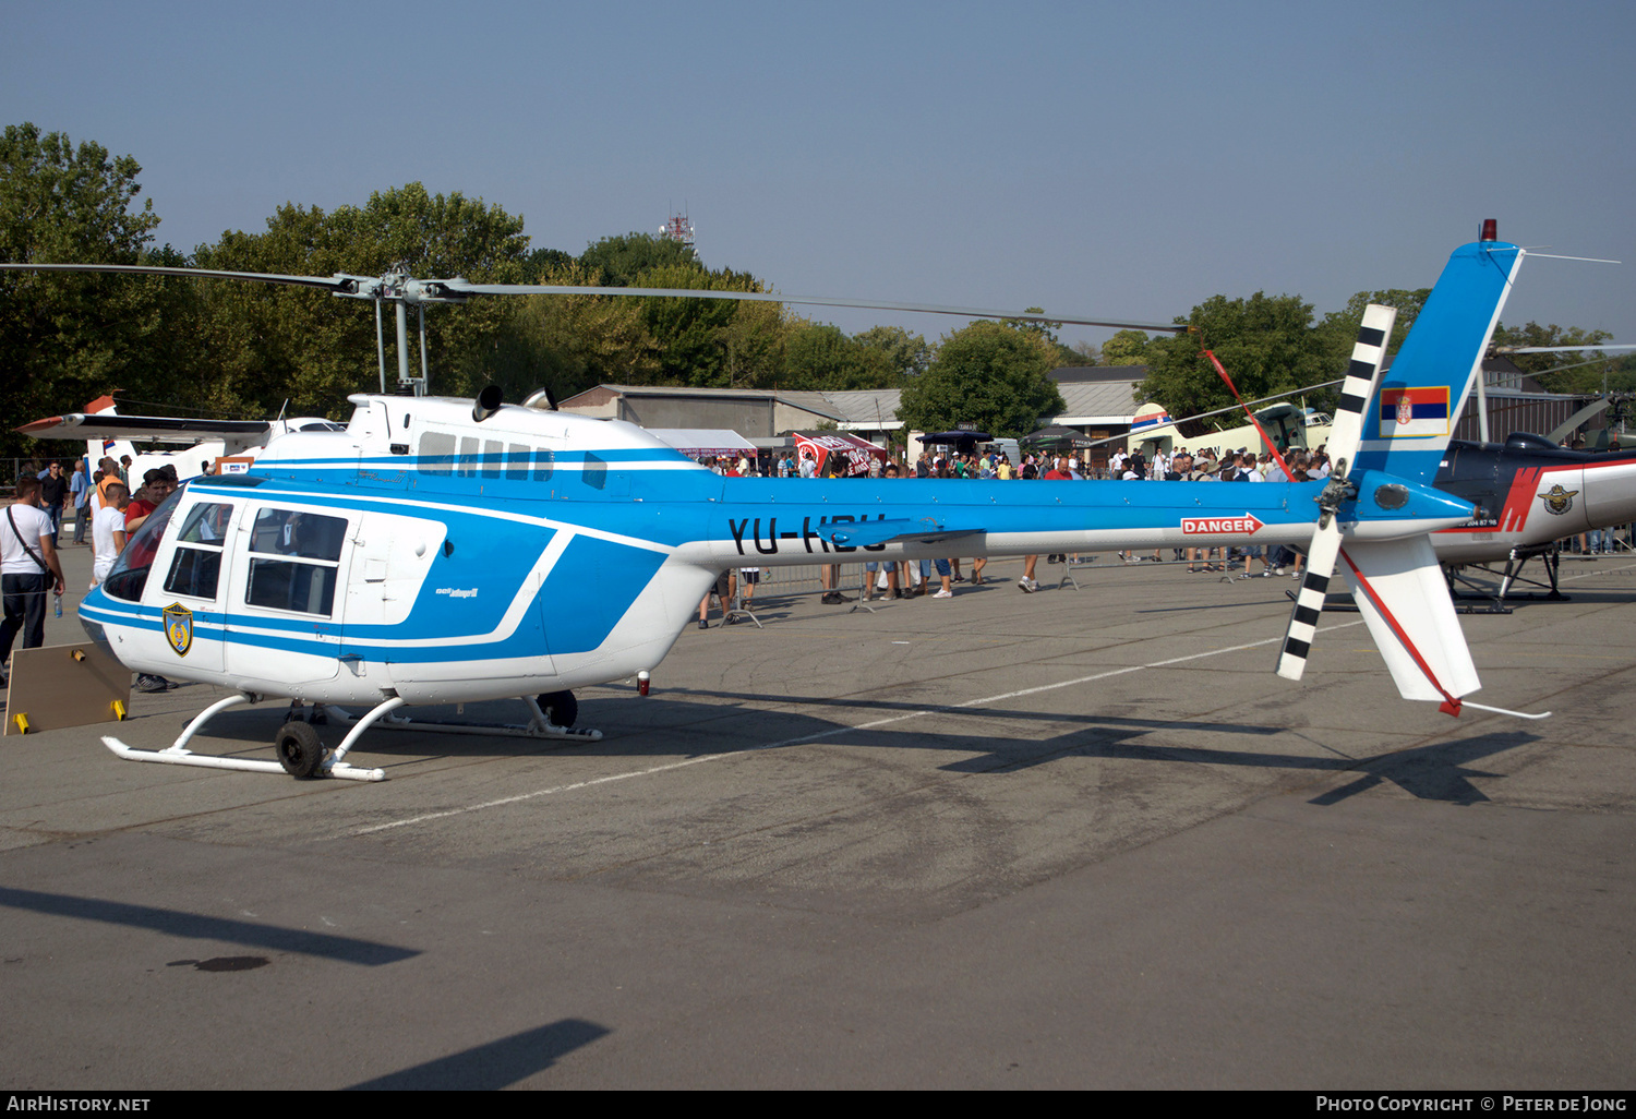
[[[1404,699],[1451,705],[1476,692],[1477,667],[1432,540],[1348,542],[1342,574]]]

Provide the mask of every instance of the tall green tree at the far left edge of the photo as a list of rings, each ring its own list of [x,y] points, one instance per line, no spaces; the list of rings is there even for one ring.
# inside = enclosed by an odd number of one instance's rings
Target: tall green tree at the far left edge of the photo
[[[159,226],[152,201],[136,206],[141,165],[75,147],[64,133],[7,126],[0,137],[0,260],[139,263]],[[124,388],[154,391],[164,376],[164,308],[185,285],[87,273],[0,273],[0,368],[13,416],[74,411]],[[8,425],[10,427],[10,425]],[[38,453],[13,432],[3,453]]]

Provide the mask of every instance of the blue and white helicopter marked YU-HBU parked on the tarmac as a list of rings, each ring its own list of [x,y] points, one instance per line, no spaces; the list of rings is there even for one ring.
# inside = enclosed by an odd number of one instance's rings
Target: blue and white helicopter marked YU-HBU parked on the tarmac
[[[1301,677],[1340,558],[1405,699],[1451,715],[1503,710],[1463,699],[1479,681],[1430,533],[1474,510],[1432,481],[1523,255],[1492,234],[1456,249],[1384,383],[1396,312],[1368,309],[1327,483],[721,478],[640,427],[558,412],[545,394],[352,396],[345,430],[283,435],[249,473],[200,478],[167,499],[87,595],[82,623],[128,667],[234,692],[169,749],[105,743],[133,761],[380,780],[347,754],[380,720],[404,725],[394,712],[411,705],[522,697],[532,720],[519,733],[600,738],[573,730],[573,689],[649,672],[728,568],[1242,543],[1309,555],[1281,676]],[[406,303],[597,291],[231,275],[396,301],[399,337]],[[216,713],[273,697],[368,712],[344,715],[352,726],[332,751],[301,718],[278,731],[276,762],[187,749]]]

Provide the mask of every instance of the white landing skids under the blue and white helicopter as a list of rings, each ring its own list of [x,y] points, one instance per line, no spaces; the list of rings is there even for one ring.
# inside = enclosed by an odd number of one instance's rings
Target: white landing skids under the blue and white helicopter
[[[566,692],[558,692],[553,697],[558,703],[571,702],[573,697]],[[115,756],[124,761],[142,761],[142,762],[159,762],[162,766],[198,766],[201,769],[236,769],[250,774],[288,774],[291,777],[337,777],[340,780],[386,780],[384,769],[363,769],[352,766],[345,761],[347,754],[363,736],[363,731],[371,726],[383,726],[388,730],[419,730],[419,731],[442,731],[450,735],[506,735],[515,738],[568,738],[584,743],[602,741],[602,731],[582,730],[574,726],[558,726],[540,707],[540,702],[532,697],[522,697],[524,703],[528,705],[530,718],[527,723],[504,723],[504,725],[486,725],[486,723],[443,723],[435,720],[412,720],[399,715],[393,715],[406,702],[399,697],[391,697],[381,703],[376,703],[362,717],[352,712],[324,705],[327,717],[348,726],[347,736],[340,741],[334,751],[324,751],[322,744],[317,741],[317,731],[312,730],[311,721],[303,717],[291,718],[280,730],[278,736],[273,739],[273,746],[278,751],[278,761],[258,761],[252,757],[219,757],[214,754],[195,754],[187,748],[188,741],[198,735],[204,723],[213,720],[221,712],[232,707],[244,707],[252,703],[260,703],[265,695],[257,695],[252,692],[240,692],[239,695],[229,695],[227,699],[218,700],[200,712],[187,728],[182,736],[165,749],[134,749],[126,746],[118,738],[103,736],[103,746],[115,753]],[[555,705],[553,705],[555,707]]]

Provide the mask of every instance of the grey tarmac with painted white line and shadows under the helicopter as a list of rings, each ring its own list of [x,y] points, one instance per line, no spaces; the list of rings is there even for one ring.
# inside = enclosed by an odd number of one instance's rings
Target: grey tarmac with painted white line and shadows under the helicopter
[[[1636,556],[1464,618],[1544,721],[1400,700],[1356,613],[1278,679],[1288,577],[1060,573],[771,595],[600,743],[380,730],[373,785],[101,746],[209,685],[3,738],[0,1085],[1636,1085]]]

